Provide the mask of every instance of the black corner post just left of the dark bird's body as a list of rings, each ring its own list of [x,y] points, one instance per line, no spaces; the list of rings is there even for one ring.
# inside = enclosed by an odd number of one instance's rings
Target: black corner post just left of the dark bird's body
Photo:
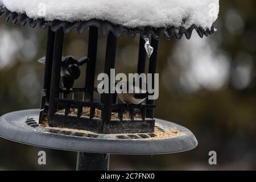
[[[55,98],[59,97],[60,89],[60,70],[61,70],[61,59],[63,52],[63,39],[64,32],[60,28],[55,34],[55,44],[54,44],[54,53],[53,53],[53,62],[52,62],[52,81],[51,89],[49,95],[49,125],[52,125],[52,117],[56,112],[56,103]]]

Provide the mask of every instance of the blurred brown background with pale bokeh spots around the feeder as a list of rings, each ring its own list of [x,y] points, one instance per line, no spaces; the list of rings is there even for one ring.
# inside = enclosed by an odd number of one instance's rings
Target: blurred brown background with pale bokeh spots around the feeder
[[[199,146],[181,154],[112,155],[110,170],[256,169],[256,1],[220,1],[214,36],[160,40],[160,96],[156,117],[190,129]],[[0,115],[39,108],[47,31],[13,26],[0,18]],[[86,55],[88,32],[65,35],[64,55]],[[97,72],[103,68],[106,40],[100,35]],[[117,72],[137,69],[138,37],[118,39]],[[83,73],[84,74],[84,73]],[[76,82],[81,85],[84,80]],[[29,91],[29,92],[28,92]],[[166,107],[168,105],[168,107]],[[47,165],[38,165],[38,151]],[[217,166],[208,152],[217,152]],[[76,152],[46,150],[0,139],[0,169],[72,170]]]

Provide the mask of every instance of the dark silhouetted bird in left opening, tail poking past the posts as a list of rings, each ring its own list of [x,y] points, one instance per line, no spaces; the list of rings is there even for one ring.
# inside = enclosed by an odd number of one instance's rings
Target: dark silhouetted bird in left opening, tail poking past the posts
[[[61,59],[61,80],[65,89],[69,90],[73,87],[75,80],[81,75],[81,65],[87,63],[88,57],[82,57],[76,60],[73,56],[64,56]],[[45,64],[46,57],[38,60],[39,63]]]

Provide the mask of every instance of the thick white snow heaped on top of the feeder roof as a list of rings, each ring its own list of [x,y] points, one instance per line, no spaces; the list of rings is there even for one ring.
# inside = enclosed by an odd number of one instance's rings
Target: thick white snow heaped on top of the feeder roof
[[[0,0],[10,11],[46,20],[108,20],[129,28],[192,24],[212,27],[218,17],[218,0]]]

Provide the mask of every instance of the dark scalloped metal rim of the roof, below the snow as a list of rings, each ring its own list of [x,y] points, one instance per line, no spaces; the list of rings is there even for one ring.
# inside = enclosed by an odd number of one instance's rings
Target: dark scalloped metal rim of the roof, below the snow
[[[5,22],[11,21],[13,24],[20,23],[22,26],[28,24],[31,28],[34,28],[37,24],[42,30],[45,30],[47,27],[51,27],[51,30],[56,32],[59,28],[63,28],[65,33],[71,32],[73,29],[77,29],[78,34],[83,34],[86,28],[91,26],[97,27],[101,32],[102,36],[108,36],[109,32],[112,32],[114,36],[120,37],[124,33],[126,33],[130,38],[134,38],[137,34],[144,36],[152,35],[152,37],[156,40],[160,38],[160,36],[164,36],[167,40],[170,40],[172,37],[176,37],[177,39],[181,39],[183,34],[187,39],[191,38],[193,30],[196,30],[197,34],[200,38],[203,36],[213,35],[214,27],[212,26],[210,29],[204,30],[202,27],[197,27],[196,25],[191,26],[188,29],[184,27],[169,27],[169,28],[154,28],[154,27],[144,27],[144,28],[127,28],[119,25],[115,25],[106,20],[97,20],[91,19],[85,22],[65,22],[60,20],[46,21],[44,19],[32,19],[29,18],[26,14],[18,14],[15,12],[11,12],[6,7],[0,7],[0,16],[4,15]]]

